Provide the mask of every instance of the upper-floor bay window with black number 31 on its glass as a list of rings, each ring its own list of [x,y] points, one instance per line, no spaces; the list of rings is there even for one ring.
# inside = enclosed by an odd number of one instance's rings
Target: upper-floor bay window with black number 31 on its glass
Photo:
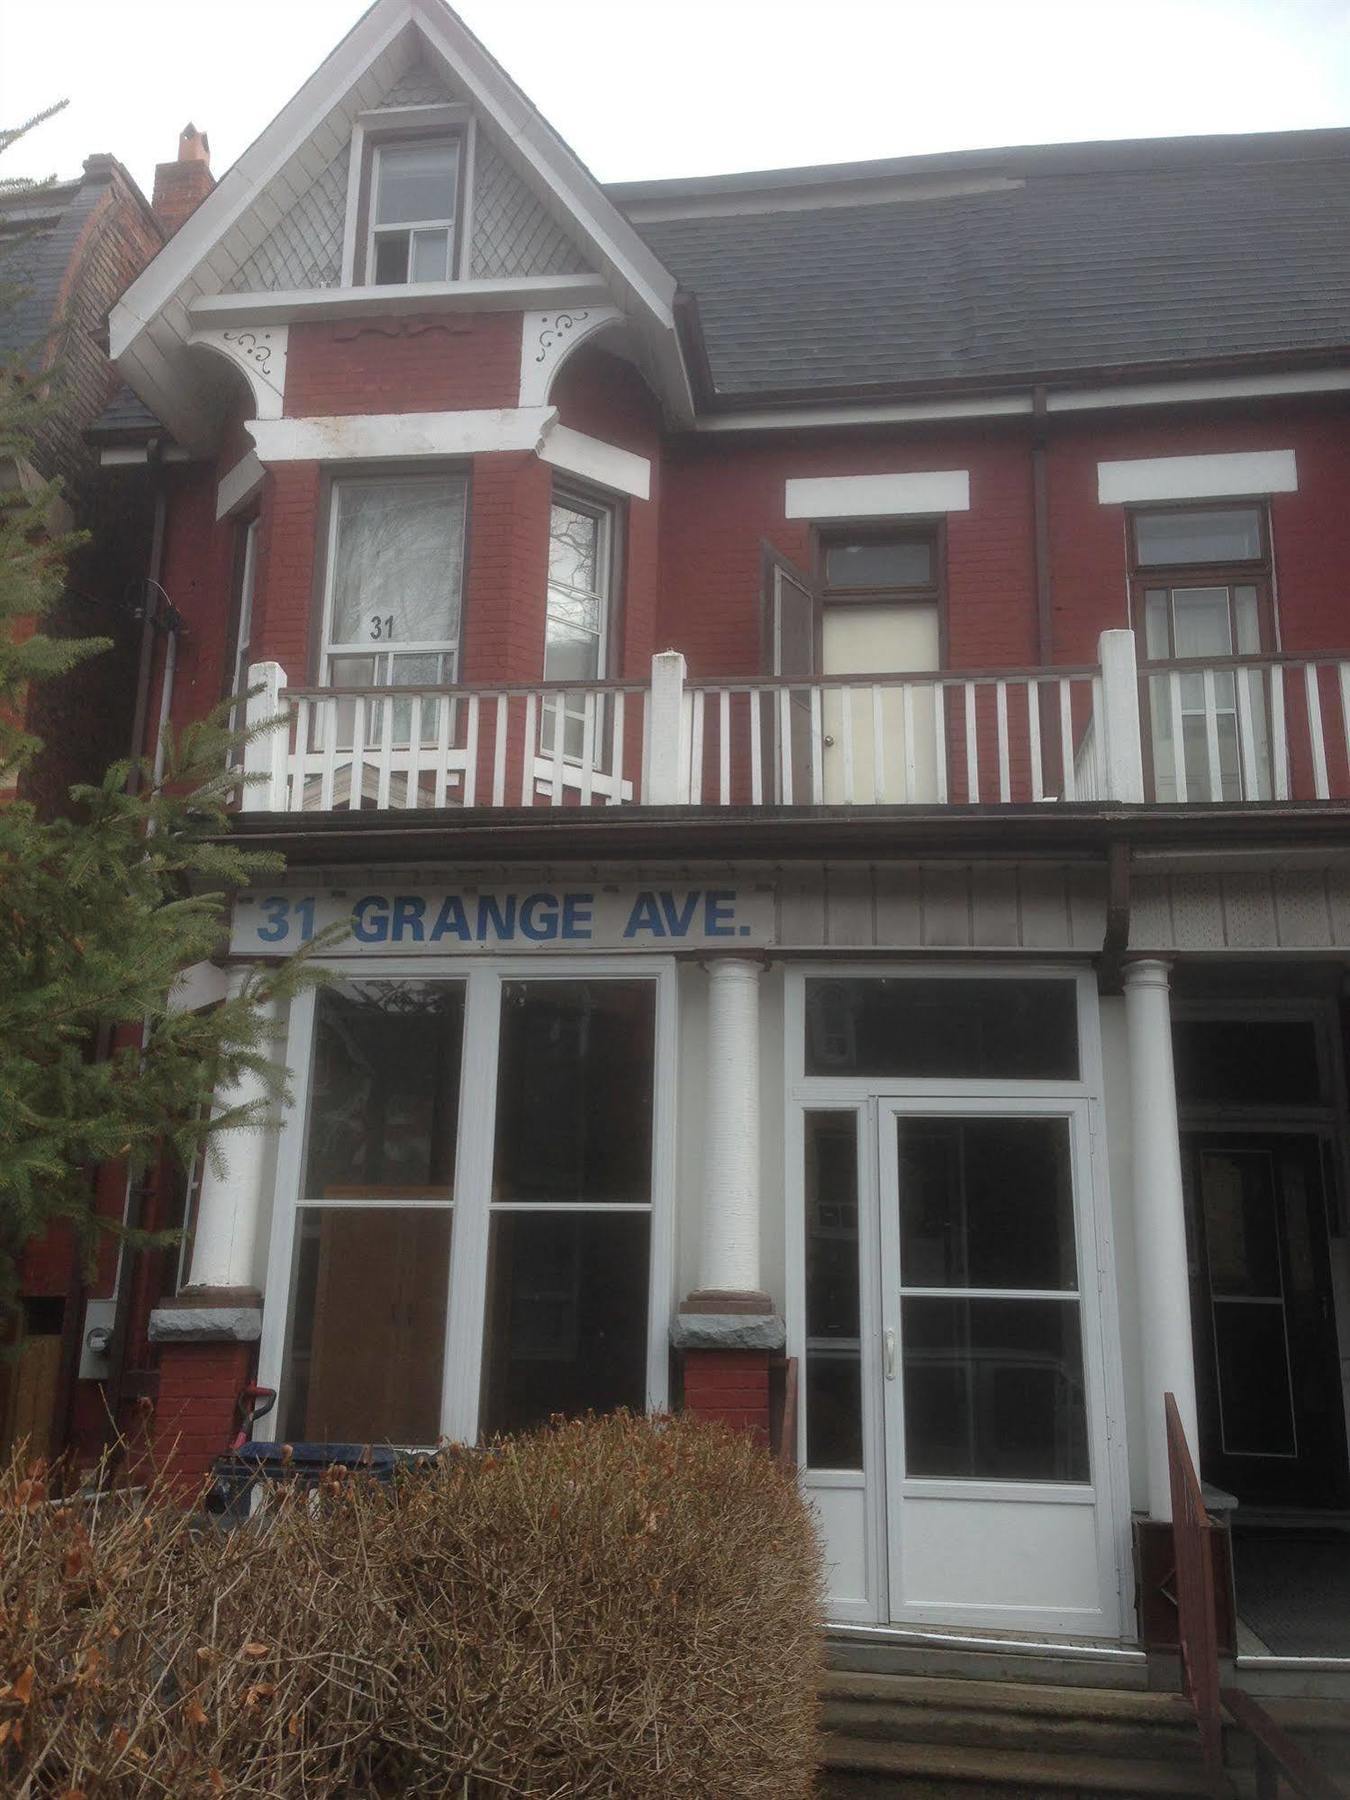
[[[335,482],[328,686],[436,688],[457,679],[464,509],[463,475]]]

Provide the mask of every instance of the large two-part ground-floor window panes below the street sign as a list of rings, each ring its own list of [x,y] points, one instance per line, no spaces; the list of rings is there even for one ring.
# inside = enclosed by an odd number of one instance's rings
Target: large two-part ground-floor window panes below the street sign
[[[284,1436],[428,1445],[662,1391],[659,1003],[650,972],[506,965],[302,1003],[299,1193],[274,1237]]]

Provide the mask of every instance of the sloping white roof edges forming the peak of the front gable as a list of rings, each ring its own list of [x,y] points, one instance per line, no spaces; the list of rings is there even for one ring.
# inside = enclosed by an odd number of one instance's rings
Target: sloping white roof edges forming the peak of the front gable
[[[398,92],[418,63],[464,95],[484,140],[585,252],[643,344],[668,405],[688,414],[675,281],[653,250],[445,0],[374,0],[113,311],[113,356],[184,443],[202,443],[211,427],[209,389],[187,349],[194,304],[230,288],[320,176],[328,173],[333,185],[335,158],[356,117]],[[466,290],[466,283],[446,286],[461,297]],[[430,288],[419,290],[423,310],[436,299]]]

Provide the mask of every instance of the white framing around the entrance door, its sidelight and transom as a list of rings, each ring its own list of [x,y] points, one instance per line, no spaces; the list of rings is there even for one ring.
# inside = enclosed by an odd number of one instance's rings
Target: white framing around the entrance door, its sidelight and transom
[[[1017,1080],[949,1076],[806,1075],[806,981],[810,979],[923,979],[923,981],[1073,981],[1076,988],[1078,1078]],[[808,961],[785,974],[783,995],[785,1067],[785,1244],[787,1244],[787,1354],[801,1370],[797,1406],[797,1465],[801,1481],[814,1489],[855,1489],[866,1496],[868,1597],[859,1606],[832,1606],[832,1616],[857,1624],[954,1624],[947,1607],[905,1607],[891,1595],[889,1508],[907,1492],[916,1498],[997,1499],[1066,1505],[1094,1503],[1098,1521],[1098,1582],[1105,1634],[1127,1615],[1123,1582],[1130,1570],[1130,1498],[1125,1447],[1125,1372],[1121,1366],[1116,1305],[1116,1258],[1111,1219],[1111,1188],[1103,1125],[1102,1026],[1096,981],[1073,963],[979,963],[979,961]],[[961,1116],[1073,1116],[1075,1134],[1075,1237],[1078,1255],[1078,1319],[1087,1390],[1087,1487],[1048,1481],[904,1480],[887,1494],[886,1393],[880,1368],[880,1334],[886,1318],[882,1292],[882,1166],[878,1112],[904,1102],[916,1112]],[[859,1123],[859,1328],[862,1336],[862,1471],[806,1467],[806,1112],[855,1112]],[[868,1352],[871,1345],[871,1354]],[[1012,1629],[1084,1631],[1071,1615],[1028,1613]],[[1103,1627],[1094,1627],[1102,1631]]]

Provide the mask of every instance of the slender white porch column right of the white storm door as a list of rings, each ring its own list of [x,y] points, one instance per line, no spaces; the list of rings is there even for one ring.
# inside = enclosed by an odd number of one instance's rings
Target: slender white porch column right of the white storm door
[[[1177,1397],[1177,1411],[1197,1465],[1199,1438],[1166,963],[1125,965],[1125,1024],[1130,1053],[1134,1255],[1143,1348],[1148,1514],[1154,1519],[1170,1519],[1165,1393]]]

